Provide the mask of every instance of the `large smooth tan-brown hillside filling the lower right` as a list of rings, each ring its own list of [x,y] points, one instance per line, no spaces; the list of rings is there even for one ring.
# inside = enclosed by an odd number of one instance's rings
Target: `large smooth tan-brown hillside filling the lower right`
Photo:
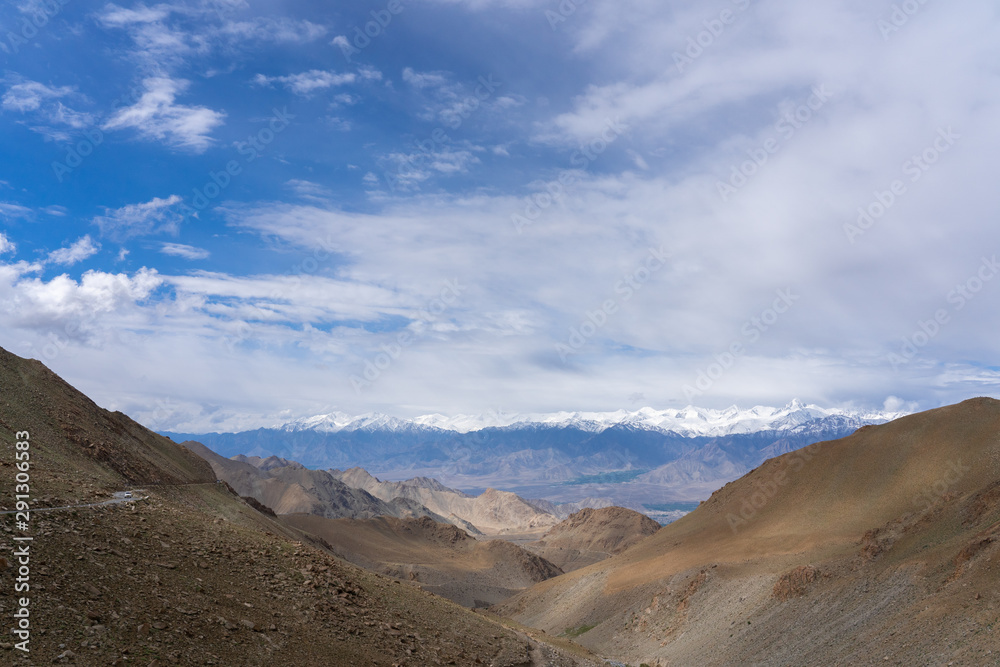
[[[765,462],[624,553],[498,611],[631,663],[1000,657],[1000,401]]]

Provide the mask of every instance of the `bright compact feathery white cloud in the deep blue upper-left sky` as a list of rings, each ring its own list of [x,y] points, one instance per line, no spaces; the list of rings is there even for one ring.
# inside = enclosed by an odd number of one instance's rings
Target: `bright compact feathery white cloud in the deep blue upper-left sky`
[[[222,124],[226,114],[208,107],[175,104],[177,95],[188,87],[188,81],[151,77],[143,85],[145,92],[139,101],[115,113],[103,129],[134,128],[145,139],[199,153],[212,144],[209,134]]]

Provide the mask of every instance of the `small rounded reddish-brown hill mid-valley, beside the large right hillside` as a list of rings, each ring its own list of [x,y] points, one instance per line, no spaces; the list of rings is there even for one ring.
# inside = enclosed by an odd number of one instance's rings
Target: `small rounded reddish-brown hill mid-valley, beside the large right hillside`
[[[585,508],[524,547],[570,572],[624,551],[659,529],[645,514],[624,507]]]

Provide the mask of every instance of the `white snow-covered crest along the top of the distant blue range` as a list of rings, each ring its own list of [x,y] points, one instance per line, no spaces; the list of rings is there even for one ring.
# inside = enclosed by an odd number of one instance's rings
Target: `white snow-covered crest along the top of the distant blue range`
[[[400,432],[427,428],[470,433],[486,428],[542,426],[575,428],[581,431],[600,433],[614,426],[630,426],[647,431],[676,433],[686,437],[720,437],[760,431],[790,431],[804,424],[829,417],[841,417],[846,422],[857,422],[859,426],[878,424],[902,417],[905,414],[907,413],[822,408],[818,405],[806,405],[795,399],[781,408],[758,405],[746,410],[734,405],[725,410],[688,406],[682,409],[665,410],[647,407],[635,411],[543,414],[513,414],[499,411],[485,415],[456,415],[454,417],[430,414],[414,419],[399,419],[380,413],[354,416],[343,412],[333,412],[276,424],[272,428],[289,432],[318,431],[321,433],[359,430]]]

